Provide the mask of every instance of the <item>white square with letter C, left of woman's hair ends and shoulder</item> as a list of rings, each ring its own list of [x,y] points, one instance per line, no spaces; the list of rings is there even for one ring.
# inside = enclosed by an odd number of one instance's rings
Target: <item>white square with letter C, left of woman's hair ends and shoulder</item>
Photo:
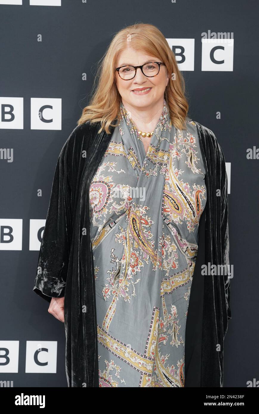
[[[61,130],[60,98],[31,98],[31,129]]]

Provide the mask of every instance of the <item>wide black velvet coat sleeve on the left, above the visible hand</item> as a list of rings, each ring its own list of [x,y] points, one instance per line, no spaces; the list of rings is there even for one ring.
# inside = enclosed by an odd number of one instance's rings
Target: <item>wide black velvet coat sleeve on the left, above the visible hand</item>
[[[52,297],[65,296],[71,246],[71,171],[67,154],[69,138],[61,149],[56,163],[33,288],[36,294],[48,302]]]

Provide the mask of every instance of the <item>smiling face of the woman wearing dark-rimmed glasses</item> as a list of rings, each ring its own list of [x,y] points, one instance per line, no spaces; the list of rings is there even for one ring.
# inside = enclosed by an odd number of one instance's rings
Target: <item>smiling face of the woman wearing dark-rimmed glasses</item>
[[[152,55],[146,55],[143,51],[128,48],[119,54],[116,67],[123,65],[138,66],[148,62],[160,62],[160,59]],[[163,101],[168,82],[169,74],[164,65],[160,65],[160,71],[154,77],[143,75],[140,68],[138,68],[136,76],[130,80],[121,79],[119,73],[116,71],[116,86],[123,104],[126,103],[128,106],[135,108],[148,108]],[[150,90],[142,94],[134,92],[134,89],[143,88],[150,88]]]

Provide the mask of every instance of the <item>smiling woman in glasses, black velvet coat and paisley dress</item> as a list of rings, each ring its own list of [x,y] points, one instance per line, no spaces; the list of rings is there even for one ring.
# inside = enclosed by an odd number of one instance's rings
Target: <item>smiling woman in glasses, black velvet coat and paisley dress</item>
[[[187,386],[223,385],[227,275],[202,279],[201,342],[186,320],[205,207],[201,263],[228,264],[225,160],[187,112],[160,30],[119,31],[58,158],[34,285],[65,322],[68,386],[184,387],[187,345]]]

